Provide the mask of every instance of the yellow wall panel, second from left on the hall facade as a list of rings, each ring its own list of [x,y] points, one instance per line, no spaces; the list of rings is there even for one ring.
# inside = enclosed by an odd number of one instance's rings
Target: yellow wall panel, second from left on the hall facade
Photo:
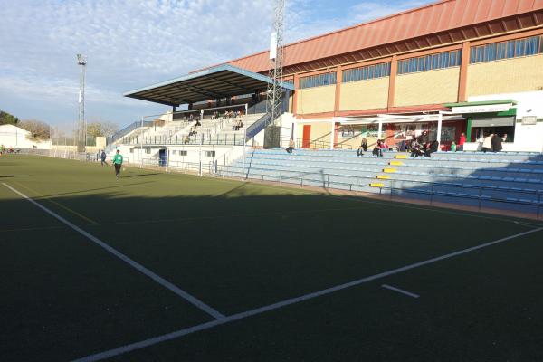
[[[376,110],[386,108],[388,77],[341,84],[339,110]]]

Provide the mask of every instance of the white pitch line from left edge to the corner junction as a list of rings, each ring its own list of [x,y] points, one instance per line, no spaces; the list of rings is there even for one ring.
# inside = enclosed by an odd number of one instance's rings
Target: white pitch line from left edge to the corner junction
[[[21,197],[25,198],[26,200],[33,203],[33,205],[38,206],[41,208],[44,212],[47,214],[52,215],[55,219],[59,220],[63,224],[66,224],[71,227],[71,229],[75,230],[78,233],[81,233],[81,235],[85,236],[87,239],[89,239],[93,243],[97,243],[100,245],[103,249],[106,251],[112,253],[113,255],[117,256],[121,261],[128,263],[132,268],[136,269],[137,271],[140,271],[147,275],[149,278],[151,278],[153,281],[157,281],[158,284],[162,285],[169,291],[173,291],[176,293],[179,297],[185,299],[189,303],[195,305],[195,307],[199,308],[200,310],[204,310],[207,314],[213,316],[215,319],[223,319],[224,315],[219,313],[217,310],[214,310],[207,304],[205,304],[202,300],[196,299],[194,296],[190,295],[186,291],[183,291],[176,287],[176,285],[172,284],[171,282],[167,281],[166,279],[162,278],[161,276],[155,274],[153,271],[148,270],[145,266],[141,265],[138,262],[133,261],[128,256],[123,254],[122,252],[117,251],[116,249],[113,249],[110,245],[107,243],[102,242],[99,238],[97,238],[94,235],[91,235],[90,233],[87,233],[83,229],[81,229],[79,226],[76,226],[75,224],[71,224],[68,220],[64,219],[61,215],[56,214],[49,210],[47,207],[35,202],[32,198],[28,197],[27,195],[24,195],[23,193],[19,192],[18,190],[14,189],[12,186],[9,186],[5,183],[2,183],[5,187],[12,190],[15,194],[20,195]]]

